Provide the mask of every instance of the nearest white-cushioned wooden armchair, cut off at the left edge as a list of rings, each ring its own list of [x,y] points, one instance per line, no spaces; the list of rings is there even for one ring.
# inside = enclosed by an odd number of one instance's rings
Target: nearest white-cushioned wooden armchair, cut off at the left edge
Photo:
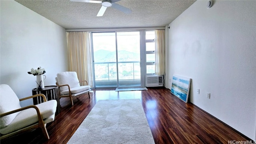
[[[26,107],[20,101],[42,96],[44,102]],[[0,85],[0,133],[1,139],[22,133],[27,130],[41,128],[44,137],[49,139],[46,124],[54,121],[57,107],[56,100],[46,100],[44,94],[36,94],[19,99],[7,84]]]

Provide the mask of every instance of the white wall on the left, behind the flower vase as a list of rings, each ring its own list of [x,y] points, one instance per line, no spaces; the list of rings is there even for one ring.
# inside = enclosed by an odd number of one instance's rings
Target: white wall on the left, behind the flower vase
[[[68,70],[66,32],[61,26],[15,1],[0,1],[0,83],[19,98],[32,95],[36,76],[27,72],[41,66],[44,85],[55,85],[58,72]],[[22,106],[32,104],[32,100]]]

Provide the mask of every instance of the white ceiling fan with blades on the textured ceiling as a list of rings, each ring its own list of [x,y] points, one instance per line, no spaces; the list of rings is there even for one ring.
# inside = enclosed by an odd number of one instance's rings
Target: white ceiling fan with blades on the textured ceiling
[[[98,3],[98,4],[102,4],[97,16],[103,16],[104,12],[106,11],[106,9],[108,7],[112,7],[115,8],[117,10],[120,10],[126,14],[130,14],[132,12],[132,10],[130,10],[129,8],[126,8],[124,6],[121,6],[119,4],[116,4],[115,2],[118,2],[120,0],[70,0],[72,2],[88,2],[88,3]]]

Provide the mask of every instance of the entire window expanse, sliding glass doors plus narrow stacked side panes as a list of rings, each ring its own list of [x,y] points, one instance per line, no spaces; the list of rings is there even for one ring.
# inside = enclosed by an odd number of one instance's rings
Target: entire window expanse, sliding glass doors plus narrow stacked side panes
[[[92,32],[95,88],[144,86],[154,74],[154,30]]]

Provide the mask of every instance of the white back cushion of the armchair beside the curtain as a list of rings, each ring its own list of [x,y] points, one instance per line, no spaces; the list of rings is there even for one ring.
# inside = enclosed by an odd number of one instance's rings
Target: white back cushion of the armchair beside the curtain
[[[80,86],[76,72],[60,72],[57,74],[58,84],[68,84],[70,88]],[[67,90],[68,86],[60,87],[60,91]]]

